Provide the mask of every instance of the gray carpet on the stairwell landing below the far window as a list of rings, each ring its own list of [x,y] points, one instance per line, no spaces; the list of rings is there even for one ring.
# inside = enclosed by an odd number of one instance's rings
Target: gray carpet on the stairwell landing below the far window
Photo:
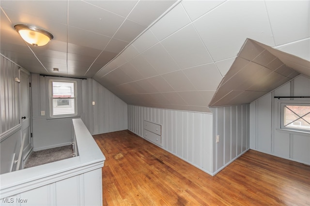
[[[68,159],[72,157],[72,153],[71,145],[32,152],[24,168]]]

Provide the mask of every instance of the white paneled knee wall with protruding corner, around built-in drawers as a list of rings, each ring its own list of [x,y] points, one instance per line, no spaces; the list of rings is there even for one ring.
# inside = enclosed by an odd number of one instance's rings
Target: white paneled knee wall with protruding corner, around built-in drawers
[[[161,124],[163,148],[211,175],[249,149],[249,104],[214,107],[213,114],[134,105],[128,109],[131,132],[143,137],[143,120]]]

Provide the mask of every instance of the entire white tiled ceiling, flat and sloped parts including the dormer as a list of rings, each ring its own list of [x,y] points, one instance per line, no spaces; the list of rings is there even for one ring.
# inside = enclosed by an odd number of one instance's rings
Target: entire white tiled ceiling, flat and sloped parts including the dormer
[[[309,1],[1,0],[0,6],[3,56],[32,73],[92,77],[128,104],[210,112],[208,106],[249,103],[298,74],[310,77]],[[16,24],[46,29],[54,40],[32,47]]]

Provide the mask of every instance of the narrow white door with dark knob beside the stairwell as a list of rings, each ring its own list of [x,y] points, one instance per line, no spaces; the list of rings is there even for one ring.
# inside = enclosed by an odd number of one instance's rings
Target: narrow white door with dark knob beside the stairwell
[[[22,162],[29,155],[32,149],[32,138],[31,138],[31,117],[30,117],[30,75],[23,70],[20,72],[20,108],[21,108],[21,138],[25,137],[25,143],[23,147]],[[22,142],[21,139],[21,142]]]

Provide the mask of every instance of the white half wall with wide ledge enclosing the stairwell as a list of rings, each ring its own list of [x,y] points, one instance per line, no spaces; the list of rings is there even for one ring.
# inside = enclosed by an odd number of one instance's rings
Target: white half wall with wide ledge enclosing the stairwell
[[[102,205],[106,158],[82,120],[72,121],[79,156],[0,175],[0,201],[24,196],[30,205],[67,205],[79,197],[73,205]]]

